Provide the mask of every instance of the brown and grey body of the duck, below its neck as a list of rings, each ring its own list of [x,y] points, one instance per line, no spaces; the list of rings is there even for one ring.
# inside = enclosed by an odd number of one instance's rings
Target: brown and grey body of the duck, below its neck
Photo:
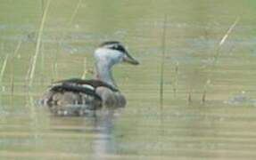
[[[45,93],[43,102],[54,115],[59,116],[83,116],[103,105],[125,105],[124,97],[110,84],[79,78],[54,83]]]

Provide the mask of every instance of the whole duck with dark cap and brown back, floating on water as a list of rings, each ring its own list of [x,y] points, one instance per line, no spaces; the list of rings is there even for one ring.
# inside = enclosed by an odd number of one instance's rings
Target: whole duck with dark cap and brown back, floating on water
[[[43,104],[56,116],[86,116],[101,108],[124,108],[125,96],[120,92],[112,68],[126,62],[138,65],[128,49],[119,41],[100,44],[94,52],[95,78],[69,78],[51,84],[42,98]]]

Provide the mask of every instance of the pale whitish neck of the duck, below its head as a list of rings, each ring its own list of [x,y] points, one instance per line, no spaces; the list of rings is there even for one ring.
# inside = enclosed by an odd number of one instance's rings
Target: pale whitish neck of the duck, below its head
[[[111,67],[107,62],[96,61],[96,78],[103,81],[104,83],[111,84],[113,87],[117,87],[112,76]]]

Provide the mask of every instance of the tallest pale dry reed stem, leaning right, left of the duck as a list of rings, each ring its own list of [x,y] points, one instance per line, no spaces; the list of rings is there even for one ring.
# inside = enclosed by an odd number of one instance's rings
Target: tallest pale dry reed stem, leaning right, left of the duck
[[[29,75],[29,86],[31,86],[32,83],[33,83],[33,79],[34,79],[34,75],[35,75],[35,69],[36,69],[36,65],[37,65],[37,57],[38,57],[39,50],[40,50],[43,31],[44,31],[44,27],[45,27],[45,20],[46,20],[46,16],[47,16],[47,12],[48,12],[50,4],[51,4],[51,0],[47,0],[47,3],[45,5],[45,12],[43,14],[41,24],[40,24],[40,28],[39,28],[39,32],[38,32],[38,36],[37,36],[36,52],[35,52],[35,55],[33,57],[32,67],[31,67],[31,71],[30,71],[30,75]]]

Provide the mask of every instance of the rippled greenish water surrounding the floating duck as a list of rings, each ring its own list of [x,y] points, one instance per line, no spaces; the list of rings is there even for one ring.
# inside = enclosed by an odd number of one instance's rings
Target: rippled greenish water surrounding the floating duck
[[[46,4],[0,0],[0,159],[256,158],[253,0],[52,0],[28,88]],[[114,68],[126,108],[95,119],[37,106],[51,82],[83,75],[85,57],[93,69],[92,52],[105,40],[123,42],[141,61]]]

